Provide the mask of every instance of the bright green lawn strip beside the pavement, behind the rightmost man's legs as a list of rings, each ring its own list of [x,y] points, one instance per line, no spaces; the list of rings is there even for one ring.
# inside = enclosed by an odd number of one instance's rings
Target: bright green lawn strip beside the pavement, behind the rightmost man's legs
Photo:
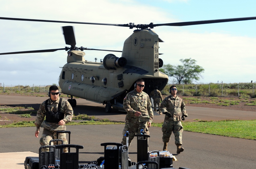
[[[162,124],[152,126],[162,127]],[[256,120],[183,122],[182,125],[184,131],[256,140]]]

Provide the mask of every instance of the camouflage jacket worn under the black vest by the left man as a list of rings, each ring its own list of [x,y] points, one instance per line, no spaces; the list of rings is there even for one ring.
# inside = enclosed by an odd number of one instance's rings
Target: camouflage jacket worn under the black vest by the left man
[[[48,110],[49,112],[57,112],[58,111],[58,104],[59,104],[60,98],[58,98],[58,100],[53,103],[51,101],[51,99],[49,98],[48,100]],[[73,117],[73,109],[71,107],[71,105],[69,104],[69,102],[66,99],[62,98],[61,101],[61,108],[60,111],[64,113],[64,121],[65,123],[70,122],[72,120]],[[40,126],[44,129],[47,130],[66,130],[66,125],[59,125],[58,123],[50,123],[47,122],[46,120],[44,120],[45,118],[45,101],[40,105],[39,110],[37,111],[37,115],[36,115],[36,121],[35,121],[35,125],[37,127],[37,129],[39,130]]]

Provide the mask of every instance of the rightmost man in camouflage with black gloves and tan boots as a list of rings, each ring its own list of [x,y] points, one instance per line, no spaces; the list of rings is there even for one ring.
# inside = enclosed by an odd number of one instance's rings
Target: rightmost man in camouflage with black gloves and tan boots
[[[186,112],[185,103],[181,98],[176,96],[178,92],[176,86],[171,86],[169,92],[170,96],[166,97],[160,106],[160,111],[165,114],[164,123],[162,125],[163,132],[163,150],[167,151],[167,143],[170,140],[170,136],[173,132],[175,137],[175,144],[177,145],[177,153],[184,151],[182,145],[182,132],[183,126],[180,120],[185,120],[188,117]],[[180,115],[182,113],[182,115]]]

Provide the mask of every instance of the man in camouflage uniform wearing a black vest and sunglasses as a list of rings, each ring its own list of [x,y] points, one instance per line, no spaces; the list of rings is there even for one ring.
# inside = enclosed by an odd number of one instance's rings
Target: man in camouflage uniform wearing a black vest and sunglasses
[[[65,131],[65,123],[70,122],[73,117],[73,109],[69,102],[66,99],[59,97],[59,89],[57,86],[53,85],[49,88],[49,99],[44,101],[39,110],[37,111],[36,116],[36,132],[35,136],[38,137],[40,127],[44,128],[42,136],[40,138],[41,146],[48,146],[50,140],[57,138],[57,131]],[[58,113],[59,101],[61,99],[60,112]],[[46,104],[47,109],[46,111]],[[54,113],[54,114],[52,114]],[[46,117],[46,120],[44,118]],[[63,144],[68,144],[66,139],[66,133],[60,133],[58,139],[63,140]],[[54,143],[56,144],[56,143]],[[42,152],[49,151],[48,148],[41,149]],[[67,152],[67,148],[63,149],[63,152]]]

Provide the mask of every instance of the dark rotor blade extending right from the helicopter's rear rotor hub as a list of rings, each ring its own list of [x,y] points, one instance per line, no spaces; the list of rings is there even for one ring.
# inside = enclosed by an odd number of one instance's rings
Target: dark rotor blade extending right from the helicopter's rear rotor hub
[[[188,26],[188,25],[200,25],[200,24],[209,24],[209,23],[246,21],[246,20],[254,20],[254,19],[256,19],[256,17],[216,19],[216,20],[192,21],[192,22],[177,22],[177,23],[163,23],[163,24],[153,24],[152,26],[153,27],[154,26]]]

